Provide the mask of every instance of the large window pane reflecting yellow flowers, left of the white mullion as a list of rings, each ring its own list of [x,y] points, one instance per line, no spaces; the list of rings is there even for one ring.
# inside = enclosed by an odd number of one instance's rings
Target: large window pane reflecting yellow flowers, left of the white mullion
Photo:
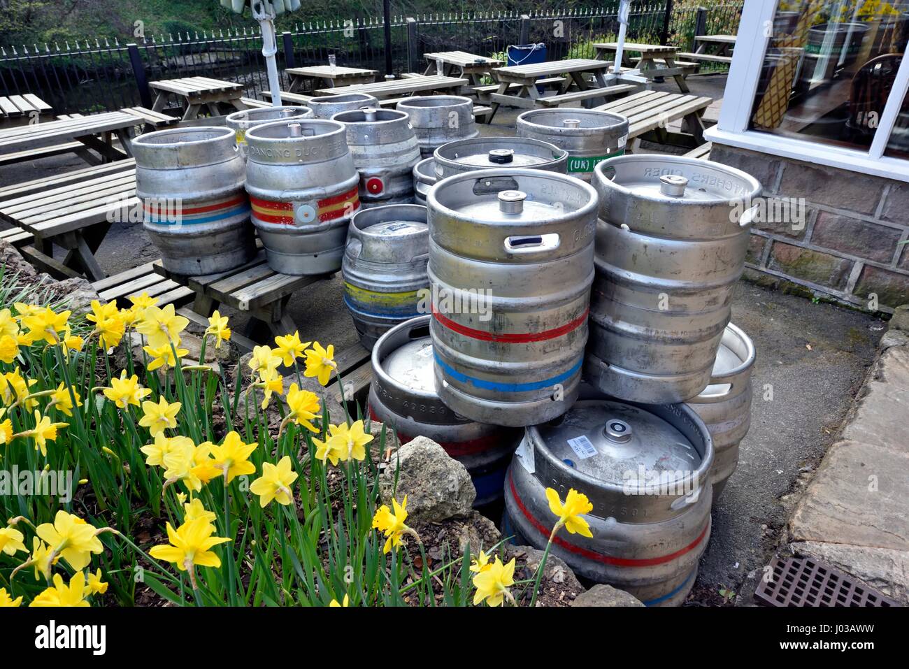
[[[905,0],[780,0],[754,130],[867,148],[909,37]]]

